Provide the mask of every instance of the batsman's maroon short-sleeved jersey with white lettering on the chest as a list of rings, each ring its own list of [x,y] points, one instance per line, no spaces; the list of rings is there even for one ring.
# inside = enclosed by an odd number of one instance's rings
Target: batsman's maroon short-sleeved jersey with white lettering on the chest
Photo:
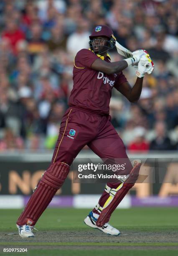
[[[73,69],[74,87],[69,97],[69,106],[109,115],[112,88],[118,90],[120,84],[127,82],[127,79],[122,72],[105,74],[92,69],[92,63],[99,58],[99,54],[96,55],[88,49],[82,49],[76,54]],[[109,55],[104,61],[110,62]]]

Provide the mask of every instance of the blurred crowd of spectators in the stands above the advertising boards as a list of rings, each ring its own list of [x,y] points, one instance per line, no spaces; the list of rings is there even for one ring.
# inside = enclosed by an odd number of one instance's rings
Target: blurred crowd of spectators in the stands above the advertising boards
[[[127,149],[178,150],[177,10],[177,0],[1,0],[0,152],[54,148],[74,56],[100,24],[127,49],[146,49],[155,64],[137,103],[112,90],[112,124]],[[133,85],[135,68],[124,74]]]

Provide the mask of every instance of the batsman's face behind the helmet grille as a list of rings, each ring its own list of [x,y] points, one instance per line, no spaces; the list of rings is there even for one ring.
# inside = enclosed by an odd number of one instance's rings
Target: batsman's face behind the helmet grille
[[[106,51],[109,38],[106,36],[97,36],[92,38],[93,51],[95,54]]]

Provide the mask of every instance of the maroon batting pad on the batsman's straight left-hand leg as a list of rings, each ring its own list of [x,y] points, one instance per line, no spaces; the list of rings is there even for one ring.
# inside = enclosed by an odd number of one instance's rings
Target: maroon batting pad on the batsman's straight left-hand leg
[[[64,163],[52,164],[44,173],[41,181],[38,183],[28,204],[18,218],[17,224],[28,224],[34,226],[40,218],[43,211],[49,205],[57,190],[64,183],[70,167]]]

